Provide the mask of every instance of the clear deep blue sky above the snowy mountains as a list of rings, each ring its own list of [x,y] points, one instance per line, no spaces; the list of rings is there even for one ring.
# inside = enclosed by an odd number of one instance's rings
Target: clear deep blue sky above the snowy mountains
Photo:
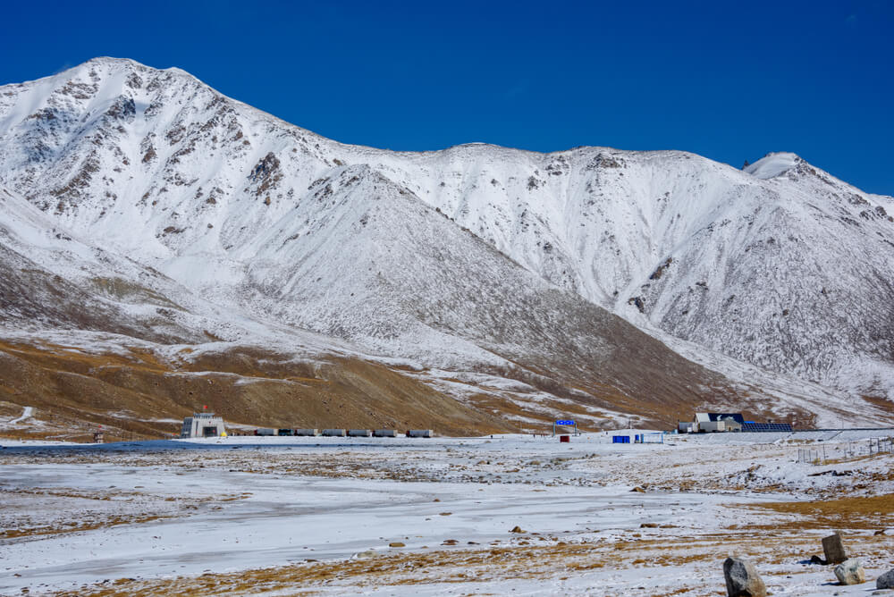
[[[4,3],[0,83],[177,66],[326,137],[793,151],[894,195],[894,2]]]

